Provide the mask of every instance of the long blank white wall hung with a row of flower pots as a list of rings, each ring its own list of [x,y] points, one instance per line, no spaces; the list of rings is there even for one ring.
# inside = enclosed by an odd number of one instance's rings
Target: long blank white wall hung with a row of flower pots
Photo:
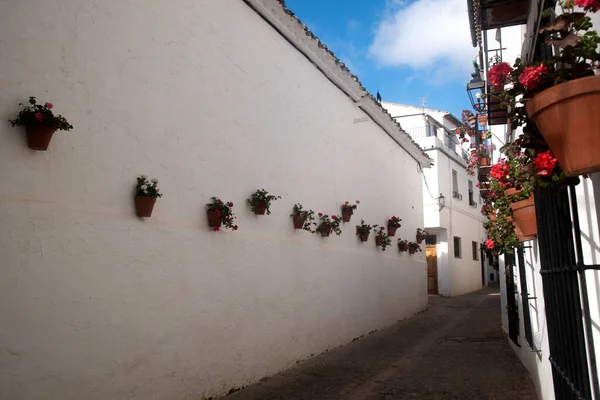
[[[422,226],[416,162],[241,1],[8,0],[0,37],[1,119],[36,95],[75,127],[43,153],[0,125],[0,398],[217,395],[426,307],[424,253],[354,236]],[[341,237],[292,229],[356,199]]]

